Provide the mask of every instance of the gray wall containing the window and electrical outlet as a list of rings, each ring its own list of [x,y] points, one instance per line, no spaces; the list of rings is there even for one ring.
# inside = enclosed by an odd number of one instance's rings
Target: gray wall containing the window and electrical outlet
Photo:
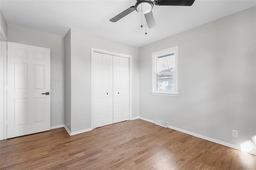
[[[255,11],[249,8],[140,47],[140,116],[236,146],[252,140]],[[176,45],[179,96],[151,95],[151,54]]]

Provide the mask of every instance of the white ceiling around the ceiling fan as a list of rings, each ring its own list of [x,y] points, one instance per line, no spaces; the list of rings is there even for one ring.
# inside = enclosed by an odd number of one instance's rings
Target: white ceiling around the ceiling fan
[[[70,27],[141,47],[198,25],[256,5],[256,0],[195,0],[192,6],[154,6],[156,27],[147,29],[145,18],[134,11],[116,23],[109,20],[134,6],[136,0],[1,0],[6,22],[64,37]]]

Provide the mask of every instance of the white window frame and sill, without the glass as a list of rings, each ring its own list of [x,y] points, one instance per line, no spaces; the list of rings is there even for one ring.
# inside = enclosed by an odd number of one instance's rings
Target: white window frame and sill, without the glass
[[[165,73],[173,73],[173,91],[157,90],[157,58],[163,55],[174,54],[174,70]],[[178,46],[152,53],[152,91],[153,95],[176,96],[178,97]]]

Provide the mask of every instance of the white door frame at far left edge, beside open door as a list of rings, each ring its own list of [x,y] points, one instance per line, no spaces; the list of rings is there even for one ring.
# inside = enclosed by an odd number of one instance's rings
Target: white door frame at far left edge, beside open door
[[[0,140],[7,139],[7,37],[0,25]]]

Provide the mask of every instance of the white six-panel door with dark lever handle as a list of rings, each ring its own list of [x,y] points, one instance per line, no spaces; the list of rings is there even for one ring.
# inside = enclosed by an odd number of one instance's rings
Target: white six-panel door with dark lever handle
[[[50,49],[8,42],[7,138],[50,130]]]

